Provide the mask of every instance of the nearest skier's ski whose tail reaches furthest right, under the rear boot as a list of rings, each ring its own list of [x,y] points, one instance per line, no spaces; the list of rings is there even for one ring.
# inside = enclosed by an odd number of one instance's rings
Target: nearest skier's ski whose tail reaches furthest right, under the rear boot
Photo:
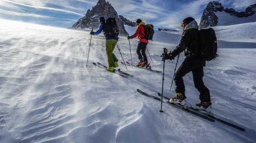
[[[158,93],[158,96],[161,97],[161,93]],[[163,98],[166,99],[167,101],[170,100],[170,98],[165,97],[165,96],[163,96]],[[191,109],[191,110],[194,110],[194,111],[201,112],[201,111],[199,111],[199,110],[197,110],[197,109],[194,109],[192,106],[190,106],[190,109]],[[225,121],[225,120],[222,120],[222,119],[216,117],[216,116],[218,116],[218,115],[209,115],[209,114],[206,114],[206,113],[204,113],[204,112],[201,112],[201,114],[204,114],[204,115],[208,116],[209,118],[212,118],[213,120],[217,120],[218,122],[221,122],[221,123],[223,123],[223,124],[225,124],[225,125],[229,125],[229,126],[231,126],[231,127],[233,127],[233,128],[239,129],[239,130],[241,130],[241,131],[245,131],[245,129],[243,129],[242,127],[239,127],[239,126],[237,126],[237,125],[233,125],[233,124],[231,124],[231,123],[229,123],[229,122],[227,122],[227,121]]]

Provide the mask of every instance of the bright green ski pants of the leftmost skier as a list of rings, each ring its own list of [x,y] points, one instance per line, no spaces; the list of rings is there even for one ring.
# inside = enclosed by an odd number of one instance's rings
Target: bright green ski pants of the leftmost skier
[[[115,39],[106,40],[106,52],[108,56],[109,67],[114,67],[114,62],[118,61],[113,53],[116,43],[117,41]]]

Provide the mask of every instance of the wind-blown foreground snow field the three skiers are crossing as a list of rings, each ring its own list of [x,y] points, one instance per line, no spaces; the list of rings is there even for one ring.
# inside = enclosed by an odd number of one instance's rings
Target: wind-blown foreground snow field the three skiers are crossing
[[[0,143],[253,143],[256,140],[256,50],[219,49],[207,63],[204,82],[213,113],[246,129],[209,122],[144,97],[137,88],[161,92],[162,73],[120,64],[133,74],[123,78],[92,65],[107,64],[101,34],[0,19]],[[220,32],[221,33],[221,32]],[[178,35],[178,34],[177,34]],[[221,37],[221,35],[220,35]],[[156,37],[157,38],[157,37]],[[133,61],[137,39],[131,39]],[[130,60],[126,37],[118,42]],[[159,57],[175,44],[151,41],[152,68],[162,70]],[[114,53],[119,61],[117,48]],[[178,65],[184,56],[181,55]],[[150,59],[149,59],[150,60]],[[166,62],[164,94],[168,97],[175,62]],[[184,77],[187,103],[199,101],[192,75]]]

